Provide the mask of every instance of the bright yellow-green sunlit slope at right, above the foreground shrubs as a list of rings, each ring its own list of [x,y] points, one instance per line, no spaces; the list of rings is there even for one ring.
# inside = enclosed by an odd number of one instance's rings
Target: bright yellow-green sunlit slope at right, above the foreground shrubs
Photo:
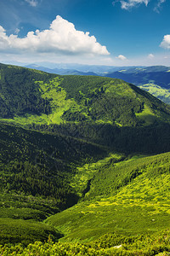
[[[85,201],[48,218],[48,224],[65,234],[64,241],[168,230],[169,168],[169,153],[105,166],[92,180]]]

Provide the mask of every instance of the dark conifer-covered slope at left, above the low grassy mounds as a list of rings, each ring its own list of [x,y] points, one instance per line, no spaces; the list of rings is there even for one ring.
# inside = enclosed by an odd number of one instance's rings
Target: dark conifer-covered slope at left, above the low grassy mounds
[[[61,207],[77,201],[70,186],[76,167],[107,152],[73,137],[3,124],[0,143],[1,190],[52,197]]]

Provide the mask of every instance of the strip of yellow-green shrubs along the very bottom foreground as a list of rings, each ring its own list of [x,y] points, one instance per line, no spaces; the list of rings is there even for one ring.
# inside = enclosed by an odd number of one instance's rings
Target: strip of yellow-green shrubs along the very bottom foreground
[[[106,234],[100,239],[86,243],[54,242],[49,237],[48,241],[42,243],[36,241],[23,247],[21,244],[10,246],[0,246],[2,256],[9,255],[116,255],[116,256],[167,256],[169,254],[170,234],[166,232],[156,232],[154,236],[122,236],[118,234]]]

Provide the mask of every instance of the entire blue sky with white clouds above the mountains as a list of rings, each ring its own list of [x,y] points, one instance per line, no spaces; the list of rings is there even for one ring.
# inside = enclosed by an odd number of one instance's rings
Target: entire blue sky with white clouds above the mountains
[[[0,62],[170,66],[169,0],[0,0]]]

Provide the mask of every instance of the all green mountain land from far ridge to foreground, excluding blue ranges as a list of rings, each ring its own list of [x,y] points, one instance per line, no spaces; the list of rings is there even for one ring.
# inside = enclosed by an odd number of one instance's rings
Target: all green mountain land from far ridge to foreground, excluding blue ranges
[[[0,106],[2,255],[168,252],[167,104],[120,79],[0,64]]]

